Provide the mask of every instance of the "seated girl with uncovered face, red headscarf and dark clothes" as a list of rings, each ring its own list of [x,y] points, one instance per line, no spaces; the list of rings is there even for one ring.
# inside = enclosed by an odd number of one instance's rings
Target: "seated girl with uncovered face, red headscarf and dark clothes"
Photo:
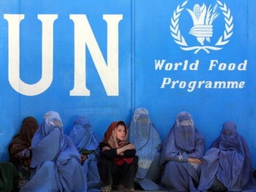
[[[118,185],[118,190],[134,191],[133,180],[138,169],[138,157],[133,144],[126,141],[127,127],[124,121],[110,124],[104,134],[99,160],[99,173],[104,183],[103,192],[112,190],[112,185]]]

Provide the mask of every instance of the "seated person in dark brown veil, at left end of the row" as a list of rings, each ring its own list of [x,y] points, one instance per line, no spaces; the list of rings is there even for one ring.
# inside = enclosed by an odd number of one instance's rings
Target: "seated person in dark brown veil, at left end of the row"
[[[10,162],[16,166],[20,172],[21,179],[19,181],[19,186],[24,187],[24,185],[29,181],[31,162],[31,140],[38,129],[37,120],[28,116],[23,119],[20,133],[15,135],[9,144],[9,154]]]

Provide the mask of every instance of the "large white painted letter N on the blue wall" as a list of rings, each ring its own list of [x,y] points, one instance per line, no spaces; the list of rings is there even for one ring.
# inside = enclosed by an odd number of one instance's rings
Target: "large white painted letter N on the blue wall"
[[[87,46],[108,96],[118,96],[118,23],[123,15],[103,15],[107,22],[107,63],[86,15],[69,15],[74,22],[74,88],[71,96],[90,96],[86,87]]]

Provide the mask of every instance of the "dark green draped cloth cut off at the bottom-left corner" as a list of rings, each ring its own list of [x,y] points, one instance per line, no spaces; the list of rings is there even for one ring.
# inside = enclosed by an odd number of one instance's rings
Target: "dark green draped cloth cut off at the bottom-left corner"
[[[16,192],[19,191],[18,181],[19,172],[10,162],[0,162],[0,191]]]

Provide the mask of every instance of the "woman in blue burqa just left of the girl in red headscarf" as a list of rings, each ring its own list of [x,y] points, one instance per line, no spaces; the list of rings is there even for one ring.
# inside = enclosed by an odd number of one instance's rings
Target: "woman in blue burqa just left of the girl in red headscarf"
[[[87,176],[88,191],[100,191],[101,177],[98,170],[99,138],[93,133],[91,123],[85,116],[74,121],[69,138],[80,152],[81,164]]]

